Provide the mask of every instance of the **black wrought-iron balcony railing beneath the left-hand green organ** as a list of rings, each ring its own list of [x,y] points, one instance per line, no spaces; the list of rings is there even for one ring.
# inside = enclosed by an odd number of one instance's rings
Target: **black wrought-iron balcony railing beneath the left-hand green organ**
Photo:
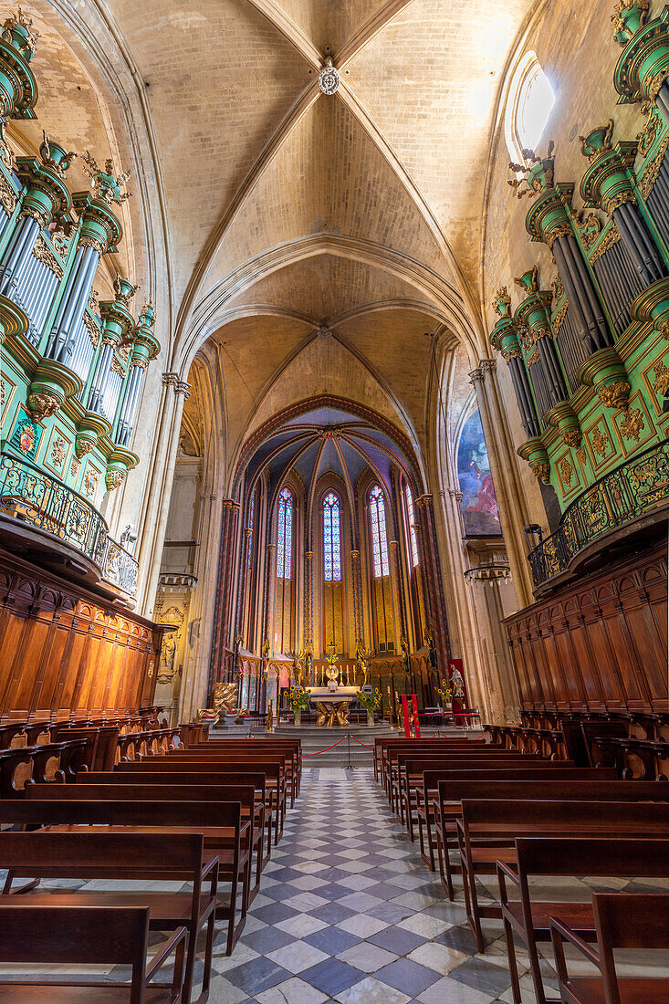
[[[0,515],[42,530],[84,555],[103,582],[137,592],[138,562],[112,539],[89,501],[29,461],[0,453]]]

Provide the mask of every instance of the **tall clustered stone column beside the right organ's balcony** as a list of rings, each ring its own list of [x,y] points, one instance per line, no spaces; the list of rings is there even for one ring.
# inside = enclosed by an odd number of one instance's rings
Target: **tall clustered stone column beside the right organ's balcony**
[[[529,519],[494,359],[481,359],[469,378],[476,392],[518,606],[527,606],[532,602],[532,581],[522,528]]]

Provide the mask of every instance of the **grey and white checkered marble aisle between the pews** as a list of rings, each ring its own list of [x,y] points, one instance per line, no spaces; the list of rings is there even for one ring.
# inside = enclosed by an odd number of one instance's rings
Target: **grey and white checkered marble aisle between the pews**
[[[490,1004],[506,954],[476,955],[368,770],[304,769],[234,955],[214,949],[215,1004]],[[490,959],[494,958],[495,963]],[[522,983],[524,987],[524,980]],[[503,995],[503,997],[502,997]]]

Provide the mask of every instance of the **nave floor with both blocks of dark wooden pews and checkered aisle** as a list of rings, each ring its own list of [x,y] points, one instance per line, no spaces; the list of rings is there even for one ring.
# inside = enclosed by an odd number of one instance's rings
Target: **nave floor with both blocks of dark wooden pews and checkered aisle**
[[[666,999],[666,781],[491,729],[377,739],[374,771],[302,771],[298,740],[192,726],[159,749],[151,731],[138,759],[0,801],[0,1000]],[[632,950],[611,971],[610,945]]]

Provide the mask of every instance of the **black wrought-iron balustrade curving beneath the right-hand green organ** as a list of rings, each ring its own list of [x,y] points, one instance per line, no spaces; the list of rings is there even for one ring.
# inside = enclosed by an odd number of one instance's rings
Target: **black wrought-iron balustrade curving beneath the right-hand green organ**
[[[669,499],[666,441],[605,474],[565,510],[560,527],[527,555],[538,586],[565,571],[579,551]]]

